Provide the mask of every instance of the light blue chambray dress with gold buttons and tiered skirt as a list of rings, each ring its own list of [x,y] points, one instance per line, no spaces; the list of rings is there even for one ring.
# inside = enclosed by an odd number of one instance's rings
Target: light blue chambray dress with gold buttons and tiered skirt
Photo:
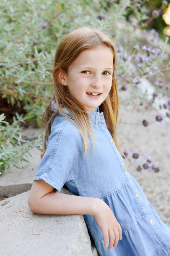
[[[56,110],[53,105],[53,111]],[[69,111],[64,112],[72,119]],[[42,179],[60,191],[102,199],[112,209],[122,228],[116,248],[104,247],[103,234],[92,215],[85,222],[101,256],[169,256],[170,227],[165,225],[148,202],[142,188],[126,170],[123,159],[109,133],[103,113],[89,114],[97,142],[94,154],[83,154],[83,140],[77,128],[60,113],[51,121],[47,150],[34,180]]]

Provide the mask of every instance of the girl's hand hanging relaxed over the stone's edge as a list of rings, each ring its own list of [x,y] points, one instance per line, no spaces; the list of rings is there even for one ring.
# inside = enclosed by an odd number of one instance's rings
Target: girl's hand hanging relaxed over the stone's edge
[[[112,249],[113,246],[117,246],[119,239],[121,240],[121,226],[111,208],[102,200],[97,208],[97,213],[93,217],[102,230],[104,246],[108,247],[109,238],[109,249]]]

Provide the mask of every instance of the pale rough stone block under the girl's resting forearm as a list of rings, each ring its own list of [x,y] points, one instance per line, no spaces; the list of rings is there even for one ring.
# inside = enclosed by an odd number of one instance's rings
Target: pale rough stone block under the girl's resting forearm
[[[69,192],[63,188],[62,193]],[[0,202],[1,256],[92,256],[82,215],[34,214],[28,195],[29,191]]]

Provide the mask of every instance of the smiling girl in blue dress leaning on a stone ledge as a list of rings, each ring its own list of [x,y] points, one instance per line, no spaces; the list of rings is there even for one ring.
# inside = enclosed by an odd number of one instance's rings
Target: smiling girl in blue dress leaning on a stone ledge
[[[29,208],[41,214],[83,214],[101,256],[168,256],[170,227],[118,152],[115,62],[113,42],[99,30],[79,28],[59,44],[45,154]],[[64,185],[74,195],[60,193]]]

